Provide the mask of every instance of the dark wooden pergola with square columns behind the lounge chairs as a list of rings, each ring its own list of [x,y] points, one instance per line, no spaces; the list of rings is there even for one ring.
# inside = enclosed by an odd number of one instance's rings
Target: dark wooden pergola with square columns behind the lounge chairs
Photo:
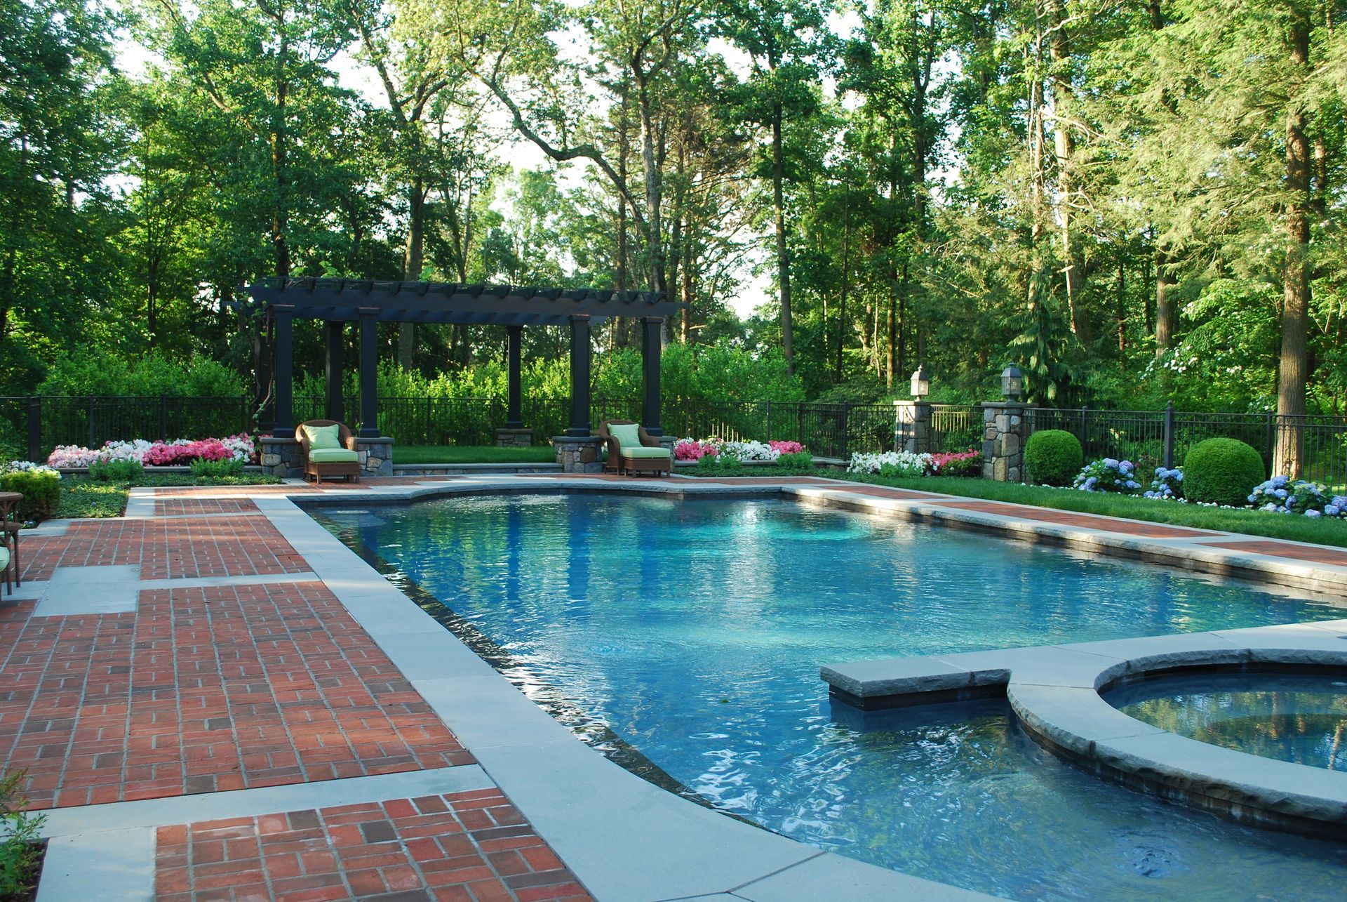
[[[644,291],[590,289],[519,289],[450,282],[370,282],[362,279],[261,279],[248,287],[275,318],[277,438],[295,433],[292,411],[294,342],[291,324],[322,320],[327,330],[327,418],[342,417],[342,338],[348,322],[360,324],[360,433],[380,437],[376,363],[380,322],[449,322],[502,325],[508,336],[509,403],[506,427],[520,429],[523,391],[520,337],[524,326],[571,330],[571,425],[566,434],[590,434],[590,328],[609,317],[641,320],[645,398],[641,425],[652,435],[660,429],[660,330],[684,305]]]

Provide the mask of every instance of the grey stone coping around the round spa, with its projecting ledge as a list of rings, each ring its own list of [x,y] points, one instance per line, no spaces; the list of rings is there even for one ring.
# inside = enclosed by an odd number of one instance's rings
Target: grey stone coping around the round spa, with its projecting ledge
[[[1005,694],[1041,746],[1167,798],[1320,839],[1342,839],[1347,773],[1259,758],[1122,713],[1100,689],[1202,667],[1342,667],[1347,619],[1136,639],[824,665],[834,698],[861,709]]]

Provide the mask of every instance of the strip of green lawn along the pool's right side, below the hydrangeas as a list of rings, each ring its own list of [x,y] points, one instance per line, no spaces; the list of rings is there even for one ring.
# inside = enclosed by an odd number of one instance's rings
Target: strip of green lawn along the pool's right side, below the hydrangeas
[[[966,498],[986,498],[995,502],[1034,504],[1061,511],[1126,516],[1133,520],[1150,520],[1152,523],[1189,526],[1200,530],[1224,530],[1226,533],[1246,533],[1249,535],[1266,535],[1277,539],[1347,547],[1347,520],[1342,519],[1312,519],[1254,510],[1200,507],[1197,504],[1153,502],[1145,498],[1106,495],[1102,492],[1043,488],[1041,485],[1020,485],[1017,483],[993,483],[985,479],[956,479],[951,476],[890,479],[843,473],[841,471],[827,475],[836,476],[838,479],[873,483],[876,485],[893,485],[894,488],[944,492]]]

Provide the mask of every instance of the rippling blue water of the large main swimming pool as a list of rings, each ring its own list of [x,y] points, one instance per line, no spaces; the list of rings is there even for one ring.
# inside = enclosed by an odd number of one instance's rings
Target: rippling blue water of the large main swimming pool
[[[717,808],[801,841],[1026,899],[1338,898],[1347,879],[1344,847],[1057,762],[1004,702],[861,716],[818,677],[1338,608],[783,502],[536,495],[317,516],[494,640],[531,694],[583,712],[578,731],[601,724]]]

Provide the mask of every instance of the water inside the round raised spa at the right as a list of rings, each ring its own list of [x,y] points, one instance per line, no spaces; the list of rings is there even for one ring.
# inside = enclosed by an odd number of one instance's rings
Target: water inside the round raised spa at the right
[[[1347,674],[1179,673],[1119,686],[1105,700],[1212,746],[1347,770]]]

